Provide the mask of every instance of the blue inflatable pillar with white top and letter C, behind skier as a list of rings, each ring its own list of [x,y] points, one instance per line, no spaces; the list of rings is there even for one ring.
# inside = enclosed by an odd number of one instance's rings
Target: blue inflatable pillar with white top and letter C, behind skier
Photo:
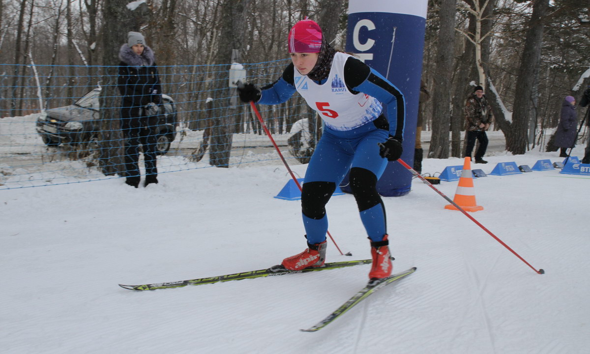
[[[428,0],[349,0],[346,51],[391,81],[405,97],[404,153],[414,163],[418,99]],[[409,193],[412,174],[398,162],[389,162],[377,182],[383,196]],[[350,192],[348,175],[342,189]]]

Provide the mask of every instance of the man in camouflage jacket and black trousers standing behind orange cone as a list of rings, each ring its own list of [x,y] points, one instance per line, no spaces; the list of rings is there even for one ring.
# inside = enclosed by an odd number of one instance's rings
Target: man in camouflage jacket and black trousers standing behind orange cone
[[[486,130],[490,128],[491,124],[491,107],[487,103],[486,95],[483,94],[483,87],[476,86],[473,93],[467,97],[465,108],[465,130],[467,136],[467,145],[465,150],[465,157],[471,158],[471,152],[476,145],[476,139],[480,145],[476,151],[476,163],[487,163],[483,159],[483,155],[487,149],[487,134]]]

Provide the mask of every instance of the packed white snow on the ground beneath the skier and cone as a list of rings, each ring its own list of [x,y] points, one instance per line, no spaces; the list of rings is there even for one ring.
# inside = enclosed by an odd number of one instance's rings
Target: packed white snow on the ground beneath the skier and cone
[[[286,152],[285,152],[286,153]],[[491,156],[490,156],[491,155]],[[572,155],[582,156],[582,147]],[[498,162],[533,166],[558,153]],[[179,157],[177,157],[179,158]],[[462,165],[425,159],[424,172]],[[303,176],[306,165],[293,165]],[[56,172],[57,173],[57,172]],[[305,247],[300,202],[273,198],[274,165],[162,173],[0,191],[2,353],[588,353],[590,179],[558,170],[475,179],[473,215],[539,275],[427,185],[384,198],[394,271],[320,332],[369,266],[135,292],[117,286],[266,268]],[[457,182],[438,185],[454,196]],[[370,258],[351,195],[327,205],[328,261]]]

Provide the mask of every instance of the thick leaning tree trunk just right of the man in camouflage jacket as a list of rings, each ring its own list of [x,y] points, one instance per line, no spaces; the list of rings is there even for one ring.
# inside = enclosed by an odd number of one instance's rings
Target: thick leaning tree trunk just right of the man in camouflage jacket
[[[506,135],[506,149],[514,155],[526,152],[527,126],[532,117],[533,87],[539,75],[541,45],[543,42],[543,23],[549,8],[549,0],[535,0],[533,14],[529,20],[525,37],[525,48],[520,58],[519,74],[516,80],[514,111],[510,129]]]

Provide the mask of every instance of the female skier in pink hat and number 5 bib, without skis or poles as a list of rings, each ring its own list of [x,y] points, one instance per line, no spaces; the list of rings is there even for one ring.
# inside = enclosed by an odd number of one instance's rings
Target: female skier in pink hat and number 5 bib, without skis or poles
[[[244,102],[278,104],[295,91],[324,120],[324,132],[307,166],[301,211],[307,249],[285,258],[289,270],[320,267],[326,259],[326,204],[350,170],[350,188],[371,241],[369,278],[391,275],[385,208],[376,188],[387,160],[402,154],[404,96],[351,55],[335,51],[316,22],[304,19],[289,32],[291,61],[273,84],[238,88]],[[386,110],[383,110],[383,105]]]

